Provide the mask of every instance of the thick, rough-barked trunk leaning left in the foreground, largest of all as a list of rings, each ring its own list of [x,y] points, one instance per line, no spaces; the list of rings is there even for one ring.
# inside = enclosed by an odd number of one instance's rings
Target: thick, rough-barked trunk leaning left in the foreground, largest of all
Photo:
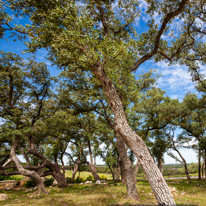
[[[114,130],[132,149],[140,161],[140,165],[150,183],[159,205],[175,205],[171,191],[155,164],[144,141],[130,128],[123,109],[123,104],[117,91],[101,65],[91,68],[93,74],[101,82],[114,114]]]

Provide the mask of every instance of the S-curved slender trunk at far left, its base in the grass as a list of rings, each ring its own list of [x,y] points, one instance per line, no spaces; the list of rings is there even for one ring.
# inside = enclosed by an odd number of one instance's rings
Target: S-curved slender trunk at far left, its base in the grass
[[[16,156],[17,144],[18,144],[18,138],[16,137],[14,139],[13,144],[12,144],[10,155],[11,155],[12,160],[15,162],[19,173],[21,175],[31,177],[35,181],[39,194],[40,193],[48,193],[45,189],[45,186],[44,186],[44,183],[43,183],[41,177],[35,171],[26,170],[21,165],[21,162],[19,161],[18,157]]]

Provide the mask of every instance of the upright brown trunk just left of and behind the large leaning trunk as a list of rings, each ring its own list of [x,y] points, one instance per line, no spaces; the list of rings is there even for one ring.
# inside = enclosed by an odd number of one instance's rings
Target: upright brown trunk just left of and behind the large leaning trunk
[[[125,148],[124,140],[121,138],[121,136],[116,134],[117,136],[117,149],[119,152],[120,159],[123,164],[123,169],[125,173],[126,178],[126,185],[127,185],[127,197],[138,200],[138,193],[136,188],[136,182],[134,179],[134,172],[132,168],[132,163],[127,155],[127,150]]]

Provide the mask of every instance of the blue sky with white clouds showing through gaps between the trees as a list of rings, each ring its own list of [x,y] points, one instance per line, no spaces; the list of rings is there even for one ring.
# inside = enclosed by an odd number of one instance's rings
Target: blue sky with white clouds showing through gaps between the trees
[[[135,27],[140,32],[143,32],[147,29],[147,20],[150,17],[146,15],[145,10],[147,8],[147,3],[144,0],[140,0],[140,9],[141,9],[141,17],[136,18]],[[114,4],[115,7],[115,4]],[[160,16],[157,13],[154,13],[153,16],[157,22],[160,24]],[[24,22],[24,19],[20,18],[17,19],[14,17],[15,23]],[[171,28],[176,29],[180,22],[178,19],[175,19],[174,23],[171,25]],[[6,37],[9,36],[9,32],[6,33]],[[163,36],[163,38],[171,38],[168,36]],[[29,54],[23,54],[22,51],[26,49],[25,45],[21,41],[13,42],[11,39],[9,41],[5,39],[0,39],[1,50],[4,52],[13,52],[19,54],[23,58],[29,57]],[[48,65],[50,73],[52,76],[56,76],[60,70],[58,70],[55,66],[51,66],[51,63],[45,59],[47,56],[47,51],[41,49],[36,53],[36,61],[38,62],[45,62]],[[147,61],[146,63],[142,64],[139,69],[136,71],[136,74],[141,74],[142,72],[147,72],[149,69],[155,69],[158,74],[162,76],[158,79],[158,87],[162,90],[166,91],[166,95],[170,96],[172,99],[179,99],[180,101],[183,99],[186,92],[191,91],[196,93],[194,88],[194,83],[192,82],[191,76],[187,71],[185,66],[180,65],[171,65],[169,66],[167,62],[158,62],[154,63],[152,60]],[[206,74],[206,68],[201,67],[202,73]],[[192,150],[181,150],[183,156],[187,160],[187,162],[197,162],[197,155]],[[175,154],[175,153],[174,153]],[[67,161],[65,161],[67,163]],[[175,163],[175,160],[165,155],[165,163]],[[100,158],[97,158],[97,164],[103,164]]]

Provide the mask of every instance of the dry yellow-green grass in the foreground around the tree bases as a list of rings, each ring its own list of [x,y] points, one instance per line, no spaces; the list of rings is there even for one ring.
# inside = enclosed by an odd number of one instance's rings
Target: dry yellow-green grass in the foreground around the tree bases
[[[206,185],[204,180],[192,180],[191,185],[187,180],[167,181],[170,187],[175,187],[177,192],[174,195],[177,204],[196,204],[206,206]],[[69,185],[65,189],[57,186],[48,187],[48,195],[37,195],[36,190],[7,190],[1,191],[8,195],[8,199],[0,201],[0,205],[15,206],[59,206],[59,205],[78,205],[78,206],[106,206],[106,205],[129,205],[129,204],[157,204],[151,188],[147,181],[139,181],[137,190],[139,201],[127,198],[126,186],[117,184],[116,186],[109,181],[107,185]]]

